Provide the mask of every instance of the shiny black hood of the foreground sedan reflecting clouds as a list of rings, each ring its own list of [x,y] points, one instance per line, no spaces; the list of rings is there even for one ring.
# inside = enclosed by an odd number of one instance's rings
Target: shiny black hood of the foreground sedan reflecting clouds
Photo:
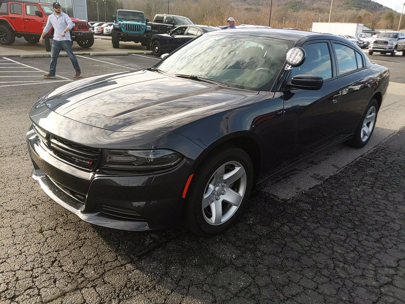
[[[91,126],[147,131],[231,109],[257,94],[143,70],[68,83],[49,92],[46,104],[59,115]]]

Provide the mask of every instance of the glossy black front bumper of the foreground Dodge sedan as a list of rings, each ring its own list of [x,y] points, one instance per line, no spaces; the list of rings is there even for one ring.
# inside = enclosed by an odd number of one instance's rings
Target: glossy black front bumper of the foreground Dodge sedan
[[[180,222],[186,161],[153,175],[117,176],[84,171],[58,159],[31,127],[27,145],[32,178],[63,208],[87,223],[130,231],[167,229]]]

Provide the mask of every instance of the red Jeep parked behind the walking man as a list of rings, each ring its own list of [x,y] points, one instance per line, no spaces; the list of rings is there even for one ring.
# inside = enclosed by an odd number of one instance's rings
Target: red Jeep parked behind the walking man
[[[15,37],[29,43],[38,43],[48,16],[53,13],[52,5],[21,0],[0,0],[0,43],[11,45]],[[70,38],[81,47],[91,47],[94,43],[94,32],[90,32],[85,20],[72,19],[75,26],[70,30]],[[53,36],[53,28],[49,31]]]

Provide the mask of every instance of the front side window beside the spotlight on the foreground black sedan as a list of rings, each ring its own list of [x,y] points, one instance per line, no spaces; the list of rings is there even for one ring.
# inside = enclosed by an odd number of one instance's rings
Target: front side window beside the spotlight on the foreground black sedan
[[[303,47],[307,57],[301,66],[292,68],[291,74],[294,77],[298,74],[312,74],[323,79],[332,78],[332,60],[328,43],[312,43]]]

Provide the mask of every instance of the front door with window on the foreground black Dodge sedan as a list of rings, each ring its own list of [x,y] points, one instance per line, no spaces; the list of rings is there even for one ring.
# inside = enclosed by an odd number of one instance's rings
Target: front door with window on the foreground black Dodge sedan
[[[334,68],[332,46],[327,40],[311,41],[303,46],[304,63],[292,68],[289,79],[312,74],[324,79],[320,90],[292,89],[283,92],[284,120],[294,133],[294,150],[301,159],[337,139],[337,118],[341,83]]]

